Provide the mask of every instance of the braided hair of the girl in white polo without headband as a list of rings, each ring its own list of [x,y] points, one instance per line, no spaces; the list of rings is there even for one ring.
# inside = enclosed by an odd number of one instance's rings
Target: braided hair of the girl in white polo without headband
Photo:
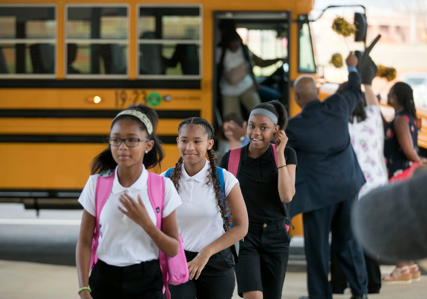
[[[212,125],[205,119],[200,117],[190,117],[185,119],[184,121],[181,121],[181,123],[178,126],[178,134],[181,132],[182,128],[186,125],[199,125],[203,127],[203,130],[208,135],[208,140],[213,138],[213,127]],[[219,211],[221,212],[221,217],[224,219],[225,222],[225,228],[228,230],[230,228],[231,220],[230,216],[225,216],[228,211],[228,207],[225,207],[224,204],[222,204],[222,199],[225,201],[225,194],[222,192],[219,192],[221,189],[221,186],[218,181],[218,173],[216,171],[216,154],[213,149],[207,150],[209,163],[210,163],[210,169],[208,171],[208,181],[206,182],[206,185],[210,185],[211,181],[213,181],[213,188],[215,190],[215,198],[218,202]],[[179,179],[181,178],[181,170],[182,170],[182,163],[184,162],[184,159],[182,157],[179,157],[178,162],[175,164],[175,168],[170,174],[170,179],[172,180],[176,191],[179,192]],[[227,204],[226,204],[227,206]],[[231,213],[229,213],[231,215]]]

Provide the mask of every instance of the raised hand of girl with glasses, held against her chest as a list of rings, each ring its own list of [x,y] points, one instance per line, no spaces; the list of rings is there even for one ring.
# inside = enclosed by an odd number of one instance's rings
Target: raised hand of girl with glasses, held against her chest
[[[144,204],[142,203],[141,195],[139,193],[138,202],[133,200],[132,197],[126,193],[120,194],[119,201],[123,204],[123,207],[126,208],[126,210],[123,210],[121,207],[117,206],[120,212],[135,221],[135,223],[139,224],[142,228],[146,228],[148,225],[154,224],[150,219]]]

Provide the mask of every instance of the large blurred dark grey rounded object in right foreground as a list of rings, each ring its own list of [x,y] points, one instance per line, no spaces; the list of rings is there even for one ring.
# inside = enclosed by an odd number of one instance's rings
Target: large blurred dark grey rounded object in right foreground
[[[360,199],[352,224],[367,253],[398,261],[427,258],[426,183],[424,171],[409,181],[374,189]]]

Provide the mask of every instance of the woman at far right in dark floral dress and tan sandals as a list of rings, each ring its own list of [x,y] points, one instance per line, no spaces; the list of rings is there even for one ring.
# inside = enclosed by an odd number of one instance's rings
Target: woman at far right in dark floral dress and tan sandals
[[[389,179],[392,180],[414,163],[427,165],[427,159],[418,155],[417,116],[411,87],[403,82],[393,85],[387,96],[387,104],[395,109],[395,118],[390,123],[384,120],[384,156]],[[406,284],[418,281],[420,275],[413,261],[401,261],[389,275],[383,277],[383,283]]]

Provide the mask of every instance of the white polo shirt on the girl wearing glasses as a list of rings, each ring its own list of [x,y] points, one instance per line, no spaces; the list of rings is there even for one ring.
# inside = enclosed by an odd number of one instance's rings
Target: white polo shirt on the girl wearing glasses
[[[79,197],[79,202],[92,216],[95,213],[95,189],[99,175],[91,175],[82,194]],[[140,225],[137,225],[132,219],[124,215],[117,206],[124,209],[119,201],[119,195],[127,192],[135,201],[140,193],[141,200],[146,207],[146,210],[156,224],[156,216],[150,199],[148,197],[147,188],[148,171],[143,166],[141,175],[130,187],[120,185],[116,175],[113,181],[111,193],[102,208],[99,216],[99,245],[97,248],[97,256],[99,259],[113,266],[129,266],[143,261],[157,260],[159,249],[151,240],[149,235],[143,230]],[[173,210],[181,204],[178,192],[176,192],[170,179],[165,179],[165,196],[163,206],[163,218],[169,216]]]

